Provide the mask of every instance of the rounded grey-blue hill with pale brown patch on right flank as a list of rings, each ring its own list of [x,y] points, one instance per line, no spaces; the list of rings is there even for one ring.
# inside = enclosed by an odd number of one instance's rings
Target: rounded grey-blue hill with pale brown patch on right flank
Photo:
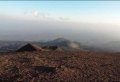
[[[59,48],[62,48],[64,50],[80,50],[80,43],[70,41],[64,38],[57,38],[55,40],[47,41],[47,42],[41,42],[41,46],[57,46]]]

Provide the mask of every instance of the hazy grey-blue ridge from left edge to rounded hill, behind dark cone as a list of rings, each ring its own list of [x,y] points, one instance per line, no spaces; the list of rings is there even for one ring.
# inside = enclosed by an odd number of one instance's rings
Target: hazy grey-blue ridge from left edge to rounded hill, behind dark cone
[[[36,44],[40,47],[57,46],[63,50],[79,50],[80,44],[64,38],[58,38],[47,42],[29,42],[29,41],[0,41],[0,52],[16,51],[27,43]]]

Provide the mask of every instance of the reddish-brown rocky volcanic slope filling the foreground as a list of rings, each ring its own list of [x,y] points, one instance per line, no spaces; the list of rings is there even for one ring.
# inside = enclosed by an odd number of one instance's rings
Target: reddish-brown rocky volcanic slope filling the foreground
[[[83,51],[0,54],[0,82],[120,82],[119,54]]]

